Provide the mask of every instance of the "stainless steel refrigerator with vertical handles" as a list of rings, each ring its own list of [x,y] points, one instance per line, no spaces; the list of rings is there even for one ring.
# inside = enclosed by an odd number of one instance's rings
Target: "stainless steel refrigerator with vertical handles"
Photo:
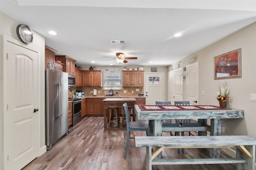
[[[68,73],[45,70],[46,147],[68,134]]]

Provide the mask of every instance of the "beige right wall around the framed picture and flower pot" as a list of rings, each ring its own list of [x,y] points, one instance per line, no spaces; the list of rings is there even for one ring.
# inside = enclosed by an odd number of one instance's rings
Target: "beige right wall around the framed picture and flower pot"
[[[214,57],[241,48],[242,78],[214,80]],[[223,39],[197,51],[181,60],[180,67],[188,65],[187,60],[196,57],[199,63],[199,104],[216,105],[218,83],[226,81],[230,86],[231,100],[228,107],[244,110],[244,119],[224,119],[226,133],[222,135],[250,135],[256,137],[256,102],[250,101],[250,94],[256,94],[256,23],[253,23]],[[204,90],[205,95],[202,95]]]

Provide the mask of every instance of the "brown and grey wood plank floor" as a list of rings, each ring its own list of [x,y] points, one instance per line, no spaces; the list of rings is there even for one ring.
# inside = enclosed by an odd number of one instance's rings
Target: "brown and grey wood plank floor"
[[[52,149],[34,159],[22,170],[144,170],[144,147],[129,147],[124,159],[126,128],[109,128],[104,131],[103,117],[84,117],[71,127],[71,132],[52,146]],[[169,135],[170,133],[163,133]],[[134,132],[142,136],[146,132]],[[188,134],[185,134],[188,135]],[[134,141],[130,141],[134,142]],[[209,150],[166,149],[164,158],[209,158]],[[222,157],[226,157],[222,153]],[[153,165],[154,170],[235,170],[234,164],[216,165]]]

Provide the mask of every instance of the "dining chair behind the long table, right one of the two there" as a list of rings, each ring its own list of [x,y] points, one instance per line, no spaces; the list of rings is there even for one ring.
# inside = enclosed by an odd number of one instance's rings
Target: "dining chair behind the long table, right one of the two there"
[[[174,101],[174,105],[190,105],[189,101]],[[176,119],[178,123],[180,123],[183,127],[197,127],[202,126],[202,123],[194,120],[194,119]],[[198,132],[200,135],[201,132]],[[188,132],[189,136],[192,135],[191,132]],[[184,136],[184,132],[181,132],[181,135]],[[194,135],[192,135],[194,136]],[[184,152],[184,149],[182,148],[182,152]]]

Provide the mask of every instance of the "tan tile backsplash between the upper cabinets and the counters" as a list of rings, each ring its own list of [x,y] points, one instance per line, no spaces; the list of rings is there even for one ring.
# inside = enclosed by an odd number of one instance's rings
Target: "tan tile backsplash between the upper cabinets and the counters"
[[[102,97],[104,97],[105,94],[109,94],[110,91],[104,90],[103,87],[70,87],[68,88],[68,97],[75,95],[77,90],[82,90],[82,92],[84,92],[84,96],[91,97],[93,96],[93,89],[97,90],[97,96]],[[122,90],[113,90],[115,95],[116,92],[118,92],[118,96],[120,97],[137,97],[139,94],[144,94],[144,87],[122,87]]]

